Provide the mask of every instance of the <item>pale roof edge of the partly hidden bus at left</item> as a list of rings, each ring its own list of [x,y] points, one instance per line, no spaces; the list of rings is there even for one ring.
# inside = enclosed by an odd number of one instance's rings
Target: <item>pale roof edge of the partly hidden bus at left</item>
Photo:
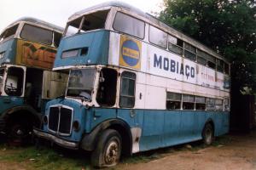
[[[38,25],[41,25],[41,26],[46,26],[46,27],[49,27],[50,29],[53,29],[55,31],[59,31],[59,32],[63,32],[64,29],[61,27],[61,26],[55,26],[49,22],[46,22],[44,20],[38,20],[36,18],[32,18],[32,17],[22,17],[18,20],[15,20],[12,24],[10,24],[9,26],[7,26],[6,28],[9,28],[11,26],[14,26],[15,24],[19,23],[19,22],[22,22],[22,21],[25,21],[25,22],[31,22],[31,23],[34,23],[34,24],[38,24]],[[6,29],[4,29],[6,30]]]

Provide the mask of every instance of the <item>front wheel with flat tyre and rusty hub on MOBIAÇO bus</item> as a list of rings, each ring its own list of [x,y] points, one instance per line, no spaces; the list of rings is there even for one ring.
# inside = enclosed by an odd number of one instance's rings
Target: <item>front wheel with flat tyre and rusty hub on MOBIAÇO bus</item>
[[[118,164],[122,140],[119,133],[113,129],[102,132],[97,139],[96,149],[91,154],[91,164],[93,167],[113,167]]]

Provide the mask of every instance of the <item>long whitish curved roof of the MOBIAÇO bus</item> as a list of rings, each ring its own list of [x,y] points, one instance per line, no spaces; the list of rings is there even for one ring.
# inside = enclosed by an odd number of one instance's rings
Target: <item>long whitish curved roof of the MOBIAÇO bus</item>
[[[107,3],[100,3],[100,4],[92,6],[90,8],[84,8],[83,10],[71,15],[67,22],[77,19],[77,18],[83,16],[84,14],[91,12],[93,10],[97,10],[100,8],[111,8],[111,7],[123,8],[123,9],[131,11],[133,13],[136,13],[136,14],[142,16],[143,18],[145,18],[146,22],[148,20],[149,23],[159,26],[160,28],[164,28],[165,29],[164,31],[170,32],[172,34],[172,36],[180,38],[184,42],[189,42],[192,45],[195,45],[196,48],[200,48],[201,50],[206,51],[208,54],[212,54],[214,57],[217,57],[218,59],[224,59],[225,61],[228,62],[227,59],[225,59],[224,57],[222,57],[221,55],[216,53],[214,50],[212,50],[212,48],[208,48],[206,45],[202,44],[201,42],[198,42],[197,40],[193,39],[192,37],[185,35],[181,31],[177,31],[172,26],[167,25],[166,23],[162,22],[161,20],[157,19],[156,17],[152,16],[151,14],[144,13],[141,9],[135,8],[127,3],[111,1],[111,2],[107,2]]]

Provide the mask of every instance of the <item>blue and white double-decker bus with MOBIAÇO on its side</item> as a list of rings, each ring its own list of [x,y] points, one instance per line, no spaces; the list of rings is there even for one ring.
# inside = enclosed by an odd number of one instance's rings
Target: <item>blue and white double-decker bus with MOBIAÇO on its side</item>
[[[33,132],[92,151],[93,166],[200,139],[211,144],[229,131],[228,61],[125,3],[69,18],[54,65],[62,69],[70,69],[66,96],[49,101],[43,129]]]

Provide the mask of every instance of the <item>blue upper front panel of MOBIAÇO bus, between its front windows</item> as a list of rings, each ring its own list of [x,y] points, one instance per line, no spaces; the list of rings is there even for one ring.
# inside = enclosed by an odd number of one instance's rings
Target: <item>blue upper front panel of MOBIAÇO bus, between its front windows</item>
[[[62,38],[56,54],[54,68],[70,65],[108,65],[108,47],[109,31],[92,31]],[[78,48],[78,56],[61,58],[63,51]],[[81,48],[88,48],[88,53],[81,55]]]

